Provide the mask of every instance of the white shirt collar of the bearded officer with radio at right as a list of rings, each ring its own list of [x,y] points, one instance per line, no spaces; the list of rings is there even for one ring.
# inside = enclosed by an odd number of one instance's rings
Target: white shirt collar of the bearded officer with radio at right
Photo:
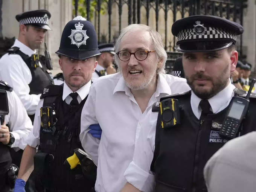
[[[235,89],[235,86],[231,84],[229,81],[229,84],[227,87],[225,87],[223,90],[219,91],[215,96],[208,99],[209,104],[211,106],[211,111],[216,114],[220,111],[224,110],[228,105],[230,100],[233,97],[233,90]],[[202,99],[195,95],[193,91],[191,91],[191,99],[190,104],[193,113],[195,116],[199,119],[201,116],[201,108],[199,107],[199,103]]]

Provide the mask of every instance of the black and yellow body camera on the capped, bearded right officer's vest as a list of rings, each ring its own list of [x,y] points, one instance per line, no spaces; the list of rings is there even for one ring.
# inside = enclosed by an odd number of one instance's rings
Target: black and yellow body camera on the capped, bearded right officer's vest
[[[178,99],[164,99],[160,101],[159,107],[162,116],[162,128],[171,128],[180,124],[180,107],[178,106]]]

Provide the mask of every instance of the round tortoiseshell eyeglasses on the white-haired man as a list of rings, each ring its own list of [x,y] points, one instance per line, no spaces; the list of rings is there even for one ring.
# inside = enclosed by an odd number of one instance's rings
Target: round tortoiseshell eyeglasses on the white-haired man
[[[131,57],[131,55],[134,55],[134,57],[139,60],[139,61],[143,61],[148,57],[148,53],[151,53],[154,51],[146,51],[146,50],[137,50],[136,52],[129,52],[129,51],[119,51],[117,52],[117,56],[121,61],[128,61]]]

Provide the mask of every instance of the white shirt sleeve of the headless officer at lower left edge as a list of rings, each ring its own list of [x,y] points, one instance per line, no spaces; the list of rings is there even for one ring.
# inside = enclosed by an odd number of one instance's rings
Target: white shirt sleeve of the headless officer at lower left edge
[[[32,132],[33,125],[26,109],[21,103],[14,91],[6,91],[8,97],[9,114],[5,116],[5,123],[8,124],[9,131],[15,138],[15,142],[11,145],[15,151],[24,149],[27,145],[26,139]]]

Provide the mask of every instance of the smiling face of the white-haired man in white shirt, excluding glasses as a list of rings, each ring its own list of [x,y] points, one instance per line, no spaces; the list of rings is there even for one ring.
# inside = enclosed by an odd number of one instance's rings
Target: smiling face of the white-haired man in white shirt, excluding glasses
[[[137,30],[126,34],[120,43],[121,50],[132,53],[137,50],[154,50],[149,32]],[[156,71],[161,64],[158,62],[155,52],[151,52],[143,61],[139,61],[134,55],[131,55],[128,61],[120,61],[120,68],[126,85],[131,90],[142,90],[156,86]]]

